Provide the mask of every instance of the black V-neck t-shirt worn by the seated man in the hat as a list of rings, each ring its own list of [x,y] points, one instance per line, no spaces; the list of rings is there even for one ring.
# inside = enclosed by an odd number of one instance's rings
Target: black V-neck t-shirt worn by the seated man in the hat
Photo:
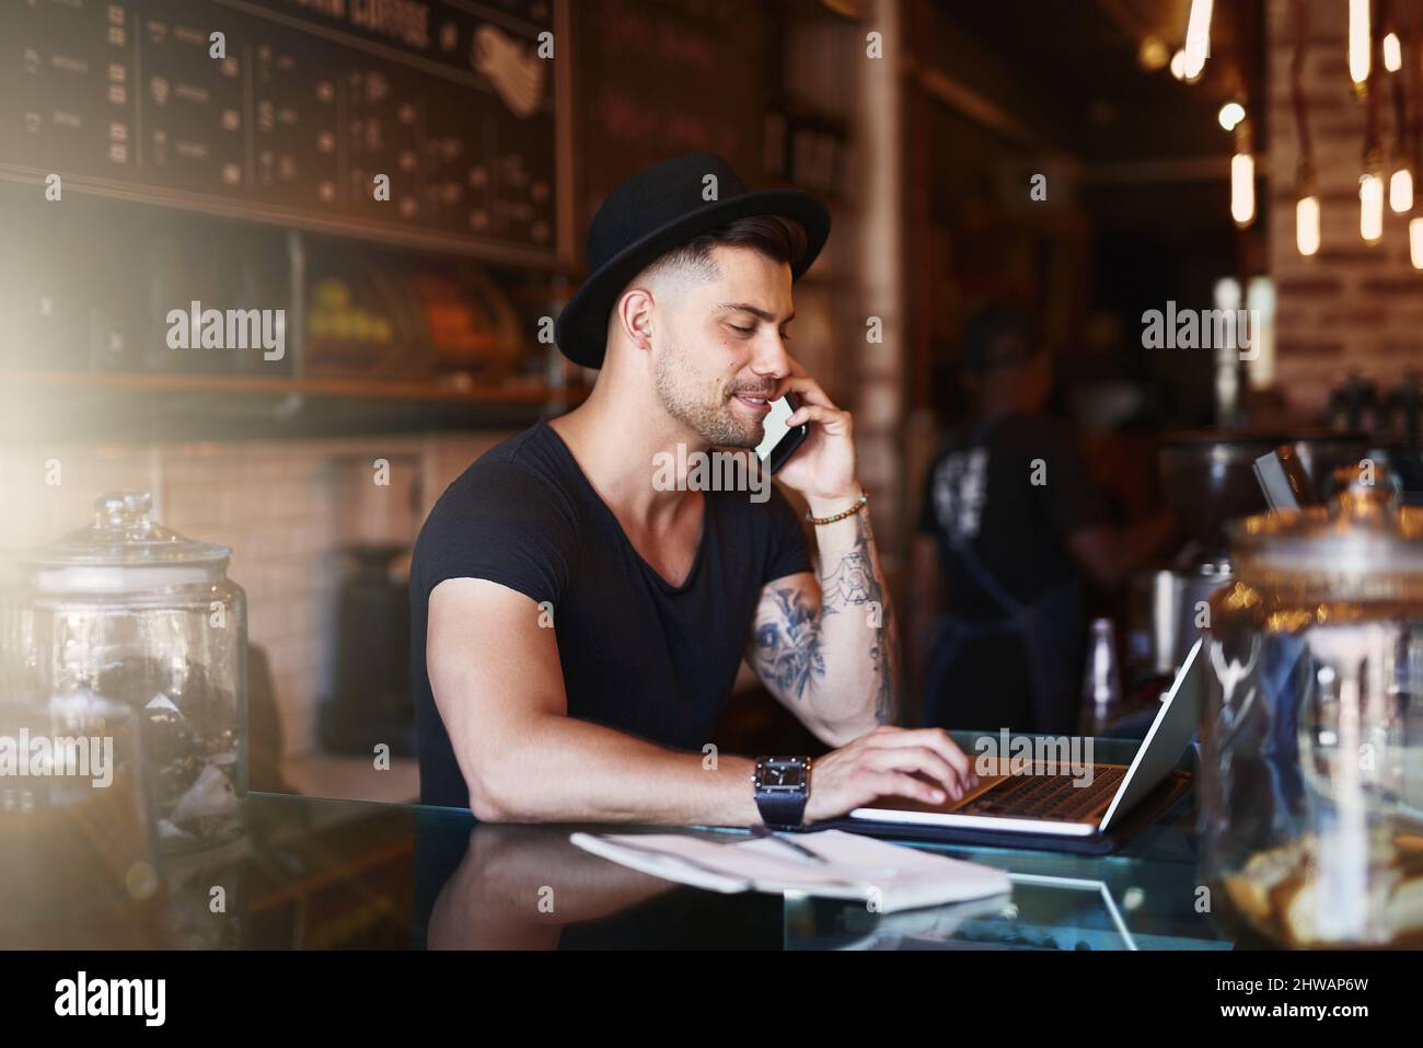
[[[649,483],[652,464],[649,463]],[[485,578],[548,601],[568,715],[672,749],[700,750],[751,634],[761,587],[810,571],[780,488],[706,491],[702,545],[673,587],[638,554],[551,426],[491,449],[440,497],[410,565],[420,799],[467,807],[468,787],[425,669],[430,592]]]

